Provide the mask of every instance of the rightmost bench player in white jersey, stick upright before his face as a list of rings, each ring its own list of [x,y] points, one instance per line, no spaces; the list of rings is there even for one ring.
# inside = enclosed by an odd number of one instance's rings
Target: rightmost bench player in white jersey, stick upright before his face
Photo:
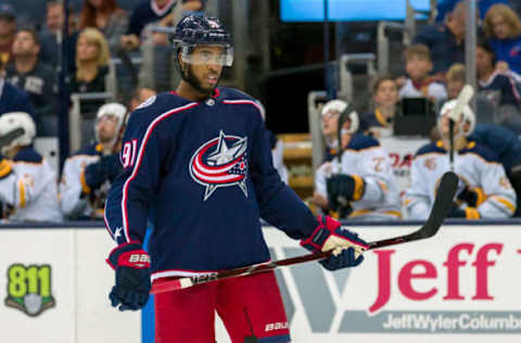
[[[412,160],[411,186],[405,200],[410,218],[428,217],[437,183],[443,173],[450,169],[449,115],[456,103],[457,100],[446,102],[440,112],[442,139],[420,148]],[[449,217],[511,217],[516,211],[516,193],[496,154],[467,139],[474,124],[474,113],[467,105],[454,125],[454,172],[460,182]]]

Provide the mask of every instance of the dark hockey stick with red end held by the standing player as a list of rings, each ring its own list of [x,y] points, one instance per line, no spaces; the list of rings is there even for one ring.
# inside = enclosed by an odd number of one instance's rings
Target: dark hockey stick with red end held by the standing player
[[[370,242],[368,250],[379,249],[387,245],[414,242],[418,240],[423,240],[436,234],[442,226],[443,220],[445,219],[448,211],[453,205],[453,198],[456,193],[456,188],[458,186],[458,177],[452,172],[447,172],[443,175],[440,182],[440,188],[436,193],[436,199],[434,200],[434,205],[432,207],[431,214],[427,219],[425,224],[417,231],[398,236],[391,239],[380,240],[376,242]],[[186,289],[195,284],[206,283],[216,280],[223,280],[228,278],[237,278],[242,276],[247,276],[252,274],[258,274],[264,271],[269,271],[277,269],[282,266],[296,265],[309,261],[320,261],[331,256],[333,251],[320,252],[316,254],[307,254],[303,256],[296,256],[285,259],[272,261],[229,270],[216,271],[211,274],[205,274],[195,277],[185,277],[178,279],[166,279],[153,284],[151,293],[164,293],[168,291],[176,291]]]

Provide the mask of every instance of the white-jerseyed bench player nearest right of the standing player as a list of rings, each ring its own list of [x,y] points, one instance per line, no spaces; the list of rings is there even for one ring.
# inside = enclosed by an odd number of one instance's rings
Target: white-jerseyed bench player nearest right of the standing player
[[[322,118],[336,134],[338,120],[347,109],[342,100],[331,100],[322,109]],[[336,212],[341,218],[394,220],[402,217],[399,194],[387,152],[380,142],[357,134],[358,114],[351,112],[340,125],[343,152],[323,163],[315,175],[314,203]],[[334,137],[334,135],[333,135]],[[336,141],[332,145],[339,145]]]

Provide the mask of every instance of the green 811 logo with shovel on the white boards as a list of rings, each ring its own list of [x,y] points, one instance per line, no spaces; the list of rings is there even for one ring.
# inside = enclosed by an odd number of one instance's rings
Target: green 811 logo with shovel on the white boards
[[[51,294],[51,266],[15,264],[9,267],[7,306],[35,317],[54,304]]]

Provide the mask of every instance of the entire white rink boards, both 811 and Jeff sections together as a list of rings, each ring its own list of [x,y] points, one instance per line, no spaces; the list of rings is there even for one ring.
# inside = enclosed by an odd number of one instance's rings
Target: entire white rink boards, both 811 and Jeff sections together
[[[368,241],[416,229],[356,227]],[[143,342],[140,313],[110,306],[104,229],[0,234],[2,342]],[[307,253],[279,230],[265,237],[274,259]],[[318,263],[277,270],[293,342],[520,342],[521,226],[447,225],[365,257],[335,272]],[[221,323],[216,334],[230,342]]]

